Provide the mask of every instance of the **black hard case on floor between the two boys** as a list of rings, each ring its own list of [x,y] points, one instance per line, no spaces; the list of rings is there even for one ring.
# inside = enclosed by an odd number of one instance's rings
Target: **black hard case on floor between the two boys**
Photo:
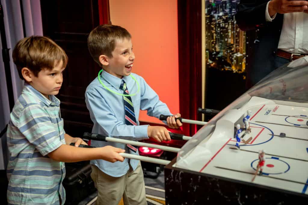
[[[66,176],[63,180],[63,187],[66,191],[65,204],[78,204],[96,191],[90,176],[92,171],[90,161],[65,163],[65,168]]]

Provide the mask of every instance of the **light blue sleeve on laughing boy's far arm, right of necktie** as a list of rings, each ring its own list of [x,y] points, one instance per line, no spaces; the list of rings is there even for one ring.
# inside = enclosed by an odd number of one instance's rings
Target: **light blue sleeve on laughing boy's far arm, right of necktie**
[[[163,115],[172,115],[168,106],[159,100],[156,92],[141,78],[141,99],[140,99],[140,109],[147,110],[147,115],[156,117],[159,119],[161,114]],[[167,123],[165,120],[163,121]]]

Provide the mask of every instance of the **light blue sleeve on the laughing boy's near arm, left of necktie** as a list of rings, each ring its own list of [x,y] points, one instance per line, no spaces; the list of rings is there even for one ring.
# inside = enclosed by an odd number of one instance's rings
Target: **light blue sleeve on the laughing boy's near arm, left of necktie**
[[[148,125],[127,125],[118,120],[99,93],[86,92],[85,97],[92,121],[97,123],[111,137],[131,137],[135,140],[148,139]]]

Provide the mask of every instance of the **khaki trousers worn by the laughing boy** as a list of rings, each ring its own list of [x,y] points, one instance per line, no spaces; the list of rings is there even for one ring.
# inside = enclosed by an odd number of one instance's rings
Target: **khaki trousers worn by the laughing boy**
[[[147,205],[143,171],[139,162],[135,171],[129,166],[128,172],[121,177],[105,174],[91,165],[91,178],[97,188],[97,205],[118,205],[121,198],[125,205]]]

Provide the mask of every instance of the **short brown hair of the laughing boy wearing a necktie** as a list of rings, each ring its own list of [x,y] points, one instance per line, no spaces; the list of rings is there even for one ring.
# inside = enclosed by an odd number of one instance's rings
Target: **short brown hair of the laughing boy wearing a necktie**
[[[100,55],[112,58],[112,51],[115,49],[116,39],[131,39],[131,34],[121,26],[99,25],[91,31],[88,37],[88,49],[95,62],[99,62]]]

